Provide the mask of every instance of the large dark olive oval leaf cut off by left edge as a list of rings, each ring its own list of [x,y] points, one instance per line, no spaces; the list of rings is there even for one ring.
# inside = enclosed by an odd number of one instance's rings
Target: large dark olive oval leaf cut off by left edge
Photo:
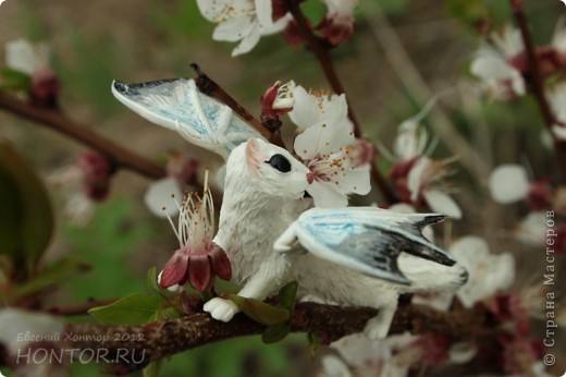
[[[53,232],[53,212],[44,183],[33,168],[0,138],[0,253],[15,269],[35,266]]]

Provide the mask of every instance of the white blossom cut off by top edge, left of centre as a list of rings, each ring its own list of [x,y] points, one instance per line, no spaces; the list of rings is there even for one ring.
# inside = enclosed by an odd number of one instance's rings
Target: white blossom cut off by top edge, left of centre
[[[200,13],[218,26],[212,39],[239,41],[232,56],[249,52],[261,36],[281,32],[290,17],[273,21],[271,0],[197,0]]]

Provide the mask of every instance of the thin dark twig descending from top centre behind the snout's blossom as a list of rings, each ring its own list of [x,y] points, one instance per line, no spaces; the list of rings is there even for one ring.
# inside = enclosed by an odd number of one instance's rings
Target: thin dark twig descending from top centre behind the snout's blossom
[[[317,60],[320,66],[322,68],[322,71],[324,72],[324,75],[327,76],[327,80],[330,83],[332,90],[336,94],[345,93],[344,86],[342,85],[342,82],[339,78],[339,75],[336,73],[336,70],[334,69],[334,64],[332,63],[332,59],[330,58],[327,47],[322,44],[322,40],[317,38],[317,36],[312,33],[312,28],[310,27],[307,17],[300,10],[299,4],[300,0],[286,1],[286,7],[288,11],[295,19],[300,34],[303,35],[303,37],[305,37],[305,40],[307,41],[309,49],[312,51],[315,57],[317,57]],[[354,123],[354,135],[359,138],[361,137],[361,129],[347,96],[346,102],[348,106],[348,118],[352,121],[352,123]],[[371,163],[371,177],[373,179],[373,182],[376,182],[376,184],[378,185],[386,204],[394,204],[398,202],[395,193],[387,184],[387,181],[373,163]]]

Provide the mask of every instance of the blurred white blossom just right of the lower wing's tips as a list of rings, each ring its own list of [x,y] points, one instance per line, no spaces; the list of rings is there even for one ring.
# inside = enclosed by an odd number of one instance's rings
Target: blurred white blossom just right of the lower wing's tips
[[[468,282],[456,295],[465,307],[508,288],[515,279],[515,258],[509,253],[494,255],[479,236],[465,236],[450,252],[469,273]]]

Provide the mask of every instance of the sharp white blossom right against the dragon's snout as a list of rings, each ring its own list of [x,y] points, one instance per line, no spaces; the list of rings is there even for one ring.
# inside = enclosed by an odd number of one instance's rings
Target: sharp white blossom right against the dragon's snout
[[[369,193],[372,150],[354,136],[346,97],[309,94],[300,86],[293,96],[295,106],[288,114],[303,130],[294,148],[312,173],[308,193],[315,206],[344,207],[347,194]]]

